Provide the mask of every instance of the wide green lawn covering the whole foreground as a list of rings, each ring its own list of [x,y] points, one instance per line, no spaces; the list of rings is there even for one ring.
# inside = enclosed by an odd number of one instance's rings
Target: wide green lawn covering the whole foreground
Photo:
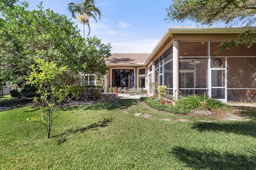
[[[18,107],[0,112],[0,169],[255,169],[256,111],[247,112],[244,121],[180,122],[136,99],[101,101],[62,108],[46,139],[26,122],[38,108]]]

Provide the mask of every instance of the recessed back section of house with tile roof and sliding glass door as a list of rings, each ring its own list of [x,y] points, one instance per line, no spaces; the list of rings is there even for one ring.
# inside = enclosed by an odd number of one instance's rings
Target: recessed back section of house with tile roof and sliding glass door
[[[147,67],[146,59],[149,53],[114,53],[106,59],[108,74],[104,77],[105,88],[107,87],[130,87],[131,76],[134,73],[134,87],[146,88]],[[104,84],[103,83],[103,84]],[[106,91],[106,89],[105,89]]]

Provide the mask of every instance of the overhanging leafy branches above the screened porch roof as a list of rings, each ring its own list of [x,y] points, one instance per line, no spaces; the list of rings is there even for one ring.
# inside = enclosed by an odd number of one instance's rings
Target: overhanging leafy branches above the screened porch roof
[[[168,21],[188,19],[208,26],[218,22],[229,26],[241,23],[244,32],[232,41],[221,43],[218,53],[239,44],[251,47],[256,42],[256,28],[246,29],[256,22],[255,0],[173,0],[167,12]]]

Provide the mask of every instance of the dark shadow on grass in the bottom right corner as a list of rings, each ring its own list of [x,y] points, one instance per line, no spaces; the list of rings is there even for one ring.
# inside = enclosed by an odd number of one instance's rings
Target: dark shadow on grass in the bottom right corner
[[[253,152],[250,153],[252,156],[247,156],[229,152],[190,150],[177,146],[170,154],[174,154],[178,160],[194,169],[240,170],[256,167],[256,155]]]

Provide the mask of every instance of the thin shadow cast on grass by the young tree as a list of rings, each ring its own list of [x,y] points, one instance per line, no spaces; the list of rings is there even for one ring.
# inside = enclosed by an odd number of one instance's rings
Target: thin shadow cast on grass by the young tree
[[[56,141],[57,141],[58,145],[60,145],[64,142],[66,142],[66,140],[67,140],[66,135],[68,135],[68,134],[75,134],[78,132],[83,133],[86,130],[107,127],[112,122],[112,120],[113,120],[113,118],[111,118],[111,119],[104,118],[102,121],[98,121],[97,123],[93,123],[91,125],[88,125],[87,127],[76,127],[75,129],[66,130],[66,132],[63,132],[62,134],[59,134],[56,136],[52,136],[52,138],[58,137],[56,139]]]

